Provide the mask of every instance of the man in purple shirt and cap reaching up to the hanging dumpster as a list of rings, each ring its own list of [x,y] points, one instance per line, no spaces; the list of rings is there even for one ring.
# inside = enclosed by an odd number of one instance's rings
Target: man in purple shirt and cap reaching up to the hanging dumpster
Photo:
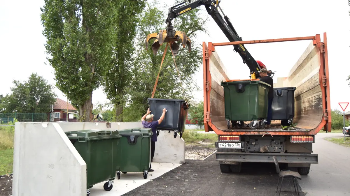
[[[155,142],[157,141],[157,130],[156,130],[156,128],[164,120],[166,111],[167,110],[164,108],[163,109],[163,114],[159,118],[159,120],[158,121],[153,121],[153,116],[154,115],[151,114],[151,111],[149,111],[149,108],[148,108],[147,114],[145,114],[145,116],[143,116],[141,118],[141,122],[142,122],[142,125],[144,125],[144,128],[151,128],[152,132],[153,132],[152,139],[151,139],[151,162],[152,162],[153,157],[154,157]],[[152,168],[152,163],[151,163],[151,165],[149,165],[148,172],[153,172],[154,171],[151,168]]]

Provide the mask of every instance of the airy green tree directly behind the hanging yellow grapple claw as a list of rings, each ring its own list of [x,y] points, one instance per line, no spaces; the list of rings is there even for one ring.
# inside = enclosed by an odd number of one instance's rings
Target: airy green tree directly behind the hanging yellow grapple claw
[[[137,53],[132,68],[133,80],[127,88],[128,107],[124,108],[123,111],[124,121],[127,122],[140,120],[147,110],[147,97],[151,97],[166,46],[166,44],[163,44],[157,55],[153,55],[151,44],[149,44],[148,50],[145,50],[146,36],[153,32],[159,32],[160,29],[165,29],[166,27],[165,14],[156,6],[157,4],[158,1],[147,4],[144,12],[141,14],[135,41],[137,43],[135,45]],[[173,21],[173,25],[176,30],[184,31],[187,36],[194,40],[199,32],[207,32],[204,27],[207,19],[203,19],[199,9],[193,9],[177,17]],[[202,58],[200,44],[193,42],[191,52],[187,48],[183,49],[180,46],[180,50],[175,57],[180,74],[179,77],[170,48],[168,48],[154,98],[186,100],[193,98],[192,92],[197,90],[197,86],[193,82],[193,76],[201,65]]]

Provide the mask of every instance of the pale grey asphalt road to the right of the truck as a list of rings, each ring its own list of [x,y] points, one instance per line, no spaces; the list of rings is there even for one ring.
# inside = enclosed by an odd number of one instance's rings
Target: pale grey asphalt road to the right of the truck
[[[350,148],[324,140],[343,136],[342,133],[318,133],[315,136],[313,153],[318,154],[318,164],[311,164],[309,175],[300,181],[306,195],[350,195]]]

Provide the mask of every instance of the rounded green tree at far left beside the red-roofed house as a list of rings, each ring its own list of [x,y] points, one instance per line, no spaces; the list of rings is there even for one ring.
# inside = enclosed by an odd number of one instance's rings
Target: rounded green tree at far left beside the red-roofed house
[[[27,81],[13,81],[12,93],[2,97],[1,104],[6,113],[47,113],[56,101],[54,86],[43,77],[32,73]]]

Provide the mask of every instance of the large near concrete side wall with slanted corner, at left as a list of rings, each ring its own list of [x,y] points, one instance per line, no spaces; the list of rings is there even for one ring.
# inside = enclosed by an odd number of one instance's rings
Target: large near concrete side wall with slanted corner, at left
[[[57,123],[15,123],[13,196],[86,196],[86,164]]]

